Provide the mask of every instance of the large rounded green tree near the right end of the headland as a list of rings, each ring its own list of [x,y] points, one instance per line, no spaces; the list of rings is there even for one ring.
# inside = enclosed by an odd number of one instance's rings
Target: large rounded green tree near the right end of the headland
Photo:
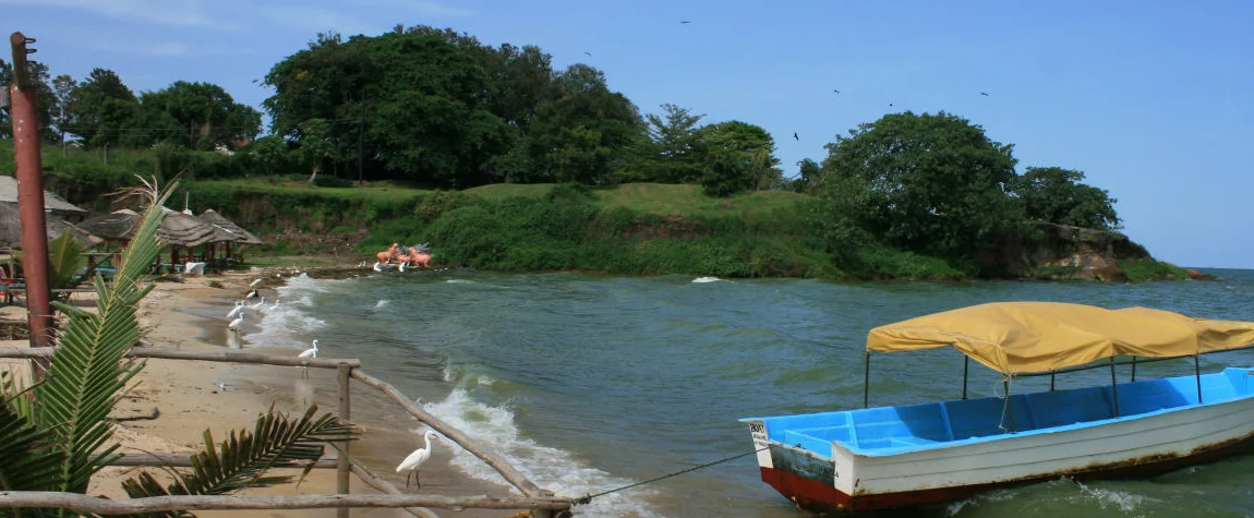
[[[1007,194],[1014,179],[1013,145],[988,139],[983,128],[961,117],[889,114],[826,148],[824,182],[863,181],[869,209],[856,218],[890,245],[973,258],[994,235],[1023,221],[1022,207]]]

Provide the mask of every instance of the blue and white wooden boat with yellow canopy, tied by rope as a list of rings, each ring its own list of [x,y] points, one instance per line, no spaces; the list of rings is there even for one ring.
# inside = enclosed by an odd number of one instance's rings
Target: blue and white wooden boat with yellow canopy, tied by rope
[[[1198,357],[1254,344],[1254,322],[1145,307],[996,302],[873,329],[872,352],[952,346],[966,355],[962,398],[939,403],[746,418],[762,480],[813,513],[958,500],[1058,477],[1151,475],[1254,447],[1254,367],[1203,374]],[[1130,361],[1116,361],[1116,359]],[[1136,380],[1136,364],[1191,357],[1194,373]],[[1149,360],[1147,360],[1149,359]],[[1002,375],[1001,396],[967,399],[971,360]],[[1132,365],[1117,383],[1116,365]],[[1107,386],[1052,390],[1053,376],[1110,367]],[[1011,394],[1022,376],[1051,390]]]

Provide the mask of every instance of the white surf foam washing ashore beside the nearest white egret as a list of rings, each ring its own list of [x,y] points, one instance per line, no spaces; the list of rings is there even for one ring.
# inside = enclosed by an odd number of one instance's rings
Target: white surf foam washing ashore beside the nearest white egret
[[[418,403],[423,405],[424,410],[473,439],[492,444],[493,449],[508,458],[510,464],[527,478],[558,495],[582,497],[621,488],[635,482],[587,465],[586,462],[569,452],[545,447],[520,436],[512,410],[478,403],[464,389],[453,390],[443,401]],[[416,429],[415,431],[424,430]],[[459,447],[454,447],[453,450],[451,464],[465,474],[480,480],[508,485],[495,469],[479,458]],[[642,498],[652,494],[656,492],[647,487],[611,493],[593,498],[587,505],[576,507],[574,514],[606,518],[660,517],[661,514],[657,514]]]

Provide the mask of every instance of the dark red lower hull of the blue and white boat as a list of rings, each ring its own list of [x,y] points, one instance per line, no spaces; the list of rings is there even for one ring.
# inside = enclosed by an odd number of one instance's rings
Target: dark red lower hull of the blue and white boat
[[[1240,455],[1254,449],[1254,435],[1228,443],[1215,444],[1206,449],[1194,450],[1183,457],[1157,457],[1131,459],[1119,464],[1091,467],[1077,473],[1048,473],[1025,479],[994,482],[988,484],[959,485],[952,488],[920,489],[913,492],[848,495],[831,487],[830,482],[819,482],[775,468],[760,467],[762,482],[793,502],[801,510],[810,513],[843,513],[882,510],[902,507],[939,504],[961,500],[972,494],[1032,482],[1052,480],[1058,477],[1073,479],[1134,478],[1152,477],[1189,465],[1205,464],[1229,457]]]

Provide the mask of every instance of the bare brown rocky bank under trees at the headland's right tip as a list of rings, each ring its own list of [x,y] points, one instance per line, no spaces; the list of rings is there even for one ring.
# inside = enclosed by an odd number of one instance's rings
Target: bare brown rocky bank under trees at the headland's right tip
[[[999,240],[981,256],[982,266],[1021,278],[1127,281],[1117,258],[1150,258],[1127,236],[1093,228],[1033,222],[1028,236]]]

